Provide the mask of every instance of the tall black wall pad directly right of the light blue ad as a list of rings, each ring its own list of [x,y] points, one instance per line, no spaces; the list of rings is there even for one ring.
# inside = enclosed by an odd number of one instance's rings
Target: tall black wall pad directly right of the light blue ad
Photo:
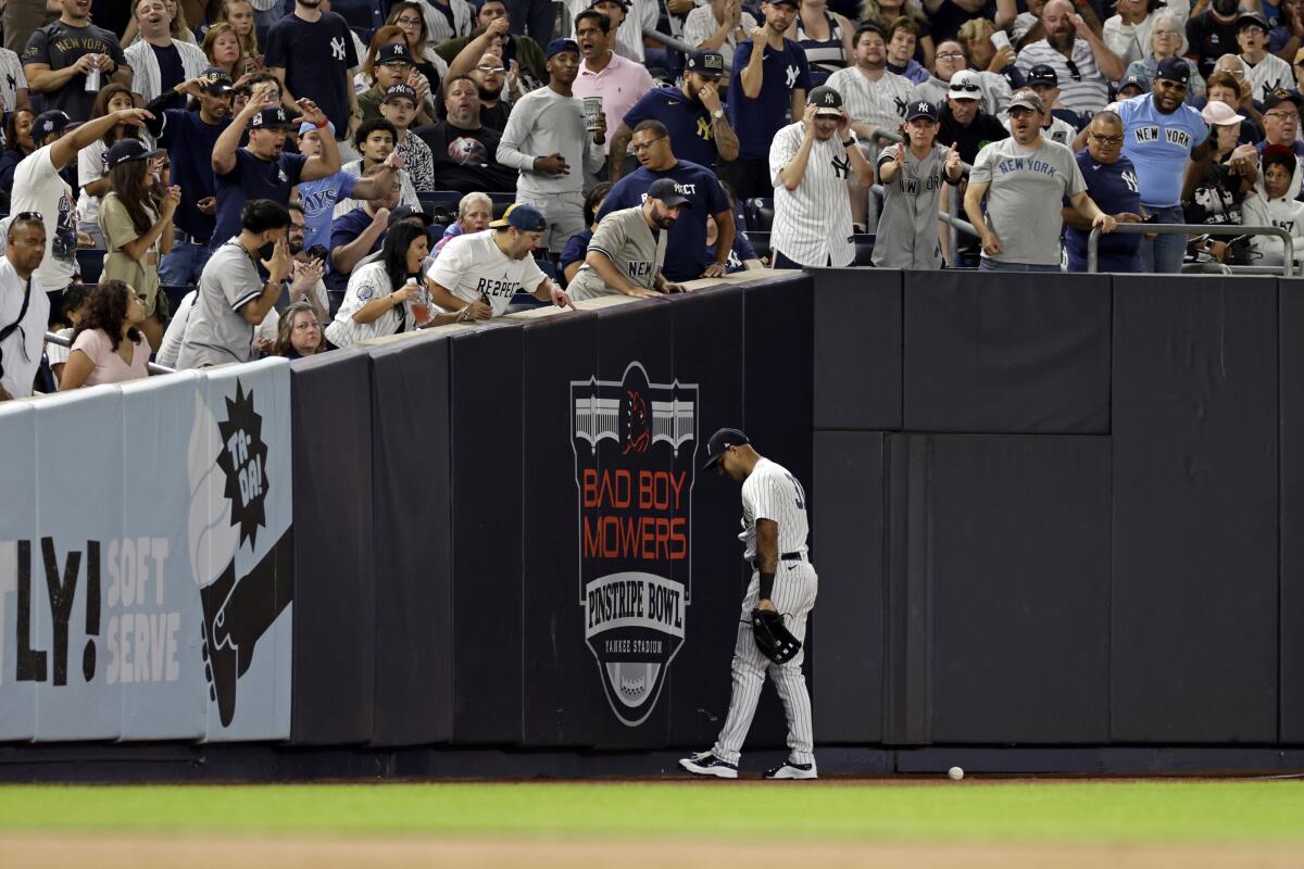
[[[291,741],[365,743],[376,681],[372,363],[353,350],[289,369],[295,632]]]

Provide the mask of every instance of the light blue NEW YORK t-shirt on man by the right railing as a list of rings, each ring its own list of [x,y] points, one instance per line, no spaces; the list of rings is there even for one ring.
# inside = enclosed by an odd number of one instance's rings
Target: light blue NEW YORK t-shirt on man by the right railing
[[[1209,138],[1209,125],[1189,106],[1164,115],[1151,94],[1112,106],[1123,119],[1123,155],[1137,169],[1141,203],[1167,208],[1181,202],[1181,178],[1191,149]]]

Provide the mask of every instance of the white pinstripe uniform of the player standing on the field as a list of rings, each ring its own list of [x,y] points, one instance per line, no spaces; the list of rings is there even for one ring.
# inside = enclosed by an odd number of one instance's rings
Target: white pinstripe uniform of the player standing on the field
[[[746,559],[755,564],[756,520],[768,519],[778,525],[780,560],[775,571],[771,601],[784,614],[784,624],[802,644],[806,642],[806,616],[815,606],[819,577],[806,550],[806,492],[788,470],[768,459],[760,459],[742,485],[742,525],[738,539],[746,547]],[[784,701],[788,717],[788,753],[795,763],[814,763],[814,731],[811,700],[802,675],[806,648],[784,664],[771,662],[756,648],[751,633],[751,611],[760,595],[760,573],[754,568],[747,594],[742,601],[742,623],[733,657],[733,696],[729,715],[720,731],[712,754],[738,765],[738,754],[756,714],[756,701],[768,674]]]

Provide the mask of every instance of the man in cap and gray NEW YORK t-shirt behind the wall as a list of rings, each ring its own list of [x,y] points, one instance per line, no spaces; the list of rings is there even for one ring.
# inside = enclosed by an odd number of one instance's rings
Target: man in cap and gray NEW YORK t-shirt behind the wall
[[[1042,112],[1035,93],[1016,93],[1009,100],[1011,138],[986,145],[974,159],[965,214],[982,237],[982,270],[1059,271],[1064,197],[1093,228],[1114,232],[1114,218],[1086,194],[1073,151],[1042,138]]]

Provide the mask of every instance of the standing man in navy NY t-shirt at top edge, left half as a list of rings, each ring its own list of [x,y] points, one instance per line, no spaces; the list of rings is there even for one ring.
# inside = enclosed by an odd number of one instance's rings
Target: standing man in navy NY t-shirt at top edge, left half
[[[363,120],[353,90],[353,34],[343,17],[319,7],[321,0],[296,0],[293,14],[271,25],[266,64],[280,79],[284,106],[310,99],[335,125],[335,138],[351,139]]]

